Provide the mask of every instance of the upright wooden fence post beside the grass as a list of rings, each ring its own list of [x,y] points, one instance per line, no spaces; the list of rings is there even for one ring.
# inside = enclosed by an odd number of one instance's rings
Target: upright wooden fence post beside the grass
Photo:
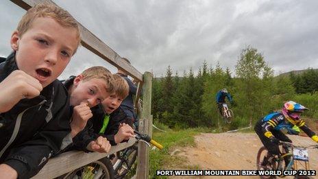
[[[151,85],[152,74],[145,72],[143,75],[143,111],[139,119],[139,131],[149,134],[149,128],[152,127],[151,118]],[[149,122],[151,121],[151,122]],[[143,142],[138,143],[138,165],[137,178],[143,179],[149,176],[149,147]]]

